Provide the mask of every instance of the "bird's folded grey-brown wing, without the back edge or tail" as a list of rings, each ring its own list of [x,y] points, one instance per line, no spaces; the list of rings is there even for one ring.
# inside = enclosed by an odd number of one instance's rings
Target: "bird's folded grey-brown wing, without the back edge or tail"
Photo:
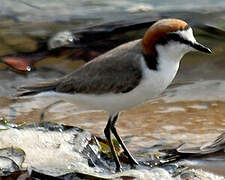
[[[142,77],[140,62],[134,56],[123,55],[91,62],[63,78],[56,91],[84,94],[128,92],[139,84]]]

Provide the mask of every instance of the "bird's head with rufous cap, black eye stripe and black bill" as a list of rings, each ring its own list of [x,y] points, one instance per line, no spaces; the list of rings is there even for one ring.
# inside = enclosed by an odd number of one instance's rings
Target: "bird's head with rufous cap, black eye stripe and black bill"
[[[177,61],[189,51],[211,53],[209,48],[196,41],[192,28],[180,19],[162,19],[154,23],[146,31],[142,47],[146,54]]]

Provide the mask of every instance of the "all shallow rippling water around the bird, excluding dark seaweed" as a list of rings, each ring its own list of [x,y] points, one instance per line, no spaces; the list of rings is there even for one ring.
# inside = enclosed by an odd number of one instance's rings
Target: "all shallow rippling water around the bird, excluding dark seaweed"
[[[35,37],[47,39],[60,30],[83,28],[124,17],[145,17],[154,10],[157,17],[165,14],[189,19],[195,24],[197,39],[213,50],[212,55],[189,53],[183,58],[180,70],[161,97],[146,102],[138,108],[122,112],[117,123],[122,138],[132,152],[155,152],[156,145],[180,143],[203,144],[213,140],[225,130],[225,4],[208,1],[207,5],[190,5],[190,1],[171,5],[141,1],[6,1],[0,5],[0,55],[29,52],[36,48]],[[74,3],[74,4],[73,4]],[[156,2],[155,2],[156,3]],[[147,4],[147,5],[146,5]],[[172,6],[175,5],[176,6]],[[204,4],[204,3],[202,3]],[[71,7],[72,5],[72,7]],[[179,11],[192,7],[192,12]],[[18,6],[19,8],[15,8]],[[195,8],[193,8],[193,6]],[[219,8],[218,8],[219,6]],[[129,7],[129,8],[128,8]],[[177,13],[173,12],[176,8]],[[206,9],[204,13],[198,9]],[[209,8],[210,7],[210,8]],[[173,9],[174,8],[174,9]],[[98,13],[99,9],[104,9]],[[46,10],[46,11],[44,11]],[[42,13],[40,15],[40,12]],[[197,12],[197,13],[196,13]],[[115,15],[115,16],[112,16]],[[9,16],[10,15],[10,16]],[[29,23],[30,21],[33,23]],[[136,23],[137,19],[136,19]],[[210,30],[209,27],[213,27]],[[138,36],[138,35],[137,35]],[[140,36],[140,35],[139,35]],[[15,87],[43,79],[54,79],[83,64],[69,58],[49,58],[36,64],[36,70],[26,75],[17,74],[0,64],[0,118],[16,123],[40,121],[41,113],[56,99],[13,100]],[[48,68],[48,70],[46,70]],[[81,112],[66,102],[49,107],[46,121],[69,124],[103,136],[108,114],[106,112]]]

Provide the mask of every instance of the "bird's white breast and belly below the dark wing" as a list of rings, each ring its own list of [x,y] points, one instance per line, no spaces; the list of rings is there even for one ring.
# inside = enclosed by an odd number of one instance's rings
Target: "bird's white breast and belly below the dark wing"
[[[179,66],[179,64],[178,64]],[[85,110],[106,110],[110,114],[136,107],[147,100],[157,97],[173,80],[178,67],[169,68],[169,72],[163,69],[159,71],[149,70],[142,60],[143,80],[128,93],[95,94],[66,94],[48,92],[48,95],[57,96],[60,99],[76,104]],[[38,96],[45,96],[41,93]]]

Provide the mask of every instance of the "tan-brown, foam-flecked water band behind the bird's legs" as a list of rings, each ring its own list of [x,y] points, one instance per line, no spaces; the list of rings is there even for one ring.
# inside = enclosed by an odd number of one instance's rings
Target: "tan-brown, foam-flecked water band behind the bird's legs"
[[[205,81],[204,85],[215,86],[218,83],[223,83],[218,90],[224,91],[225,82],[222,81]],[[217,94],[213,97],[215,99],[208,99],[208,93],[202,94],[202,87],[188,86],[191,85],[171,89],[173,92],[168,90],[161,98],[121,113],[117,127],[131,150],[151,150],[150,147],[154,145],[179,145],[184,142],[199,145],[224,132],[224,94],[219,99],[216,99]],[[183,88],[189,93],[186,97],[183,96]],[[192,92],[191,88],[199,89],[194,98],[190,96],[196,92]],[[8,115],[8,118],[15,118],[14,121],[18,123],[36,122],[43,112],[40,107],[46,105],[46,102],[39,101],[36,99],[13,103],[9,109],[10,102],[5,100],[5,108],[2,108],[5,112],[2,113],[5,114],[4,117]],[[74,105],[62,102],[49,107],[44,120],[78,126],[103,136],[107,118],[106,112],[81,112]]]

